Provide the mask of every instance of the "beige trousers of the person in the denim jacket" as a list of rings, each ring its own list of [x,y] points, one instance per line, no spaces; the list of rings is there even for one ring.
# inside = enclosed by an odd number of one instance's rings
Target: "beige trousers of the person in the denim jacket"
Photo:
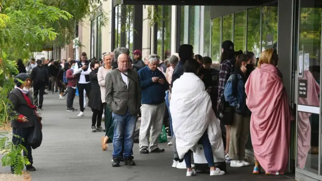
[[[244,160],[246,144],[250,135],[251,117],[234,114],[230,125],[229,158]]]

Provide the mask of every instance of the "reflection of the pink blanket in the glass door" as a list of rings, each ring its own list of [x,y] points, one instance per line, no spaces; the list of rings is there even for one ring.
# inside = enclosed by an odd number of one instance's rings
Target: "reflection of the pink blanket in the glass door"
[[[307,80],[307,98],[298,98],[299,105],[319,107],[318,95],[320,86],[315,81],[310,71],[305,70],[303,78]],[[297,167],[303,169],[305,166],[308,151],[311,147],[311,124],[309,117],[311,113],[298,112],[297,121]]]

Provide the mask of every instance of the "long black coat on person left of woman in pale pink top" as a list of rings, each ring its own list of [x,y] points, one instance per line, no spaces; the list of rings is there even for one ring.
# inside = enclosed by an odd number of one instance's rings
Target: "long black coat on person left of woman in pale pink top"
[[[88,107],[96,110],[101,110],[101,105],[102,105],[101,87],[99,85],[99,81],[97,79],[97,73],[95,71],[91,71],[90,81],[92,84],[92,89],[90,93]]]

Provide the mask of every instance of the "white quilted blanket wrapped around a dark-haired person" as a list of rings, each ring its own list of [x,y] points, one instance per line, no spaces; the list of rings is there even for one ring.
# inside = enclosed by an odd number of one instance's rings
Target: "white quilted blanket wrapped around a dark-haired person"
[[[206,129],[213,155],[224,159],[220,123],[212,110],[205,85],[197,75],[184,73],[173,83],[170,112],[180,159],[189,149],[196,151]]]

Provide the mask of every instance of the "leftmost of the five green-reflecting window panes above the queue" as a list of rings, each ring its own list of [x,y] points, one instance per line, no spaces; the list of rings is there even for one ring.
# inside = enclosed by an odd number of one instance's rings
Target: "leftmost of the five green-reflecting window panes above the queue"
[[[221,17],[215,18],[211,23],[211,59],[219,62],[221,54]]]

